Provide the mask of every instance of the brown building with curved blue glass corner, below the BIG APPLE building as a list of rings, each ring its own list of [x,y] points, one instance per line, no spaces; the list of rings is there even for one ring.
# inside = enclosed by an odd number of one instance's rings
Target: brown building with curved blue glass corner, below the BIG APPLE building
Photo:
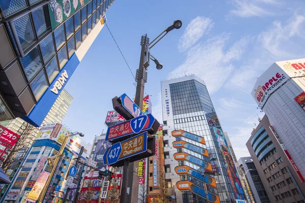
[[[252,131],[246,146],[270,202],[304,202],[305,183],[266,115]],[[258,200],[256,195],[255,199]]]

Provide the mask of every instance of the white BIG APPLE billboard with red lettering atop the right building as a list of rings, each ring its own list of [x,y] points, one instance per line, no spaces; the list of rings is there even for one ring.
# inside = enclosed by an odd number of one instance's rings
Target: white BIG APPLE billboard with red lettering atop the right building
[[[289,78],[304,75],[305,58],[275,62],[257,78],[251,94],[258,106],[262,108],[270,94],[283,85]]]

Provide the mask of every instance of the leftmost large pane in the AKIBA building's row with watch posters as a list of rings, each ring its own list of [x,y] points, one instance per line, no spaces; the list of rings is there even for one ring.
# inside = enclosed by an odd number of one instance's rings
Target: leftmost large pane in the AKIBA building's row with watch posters
[[[35,41],[34,31],[29,15],[26,14],[13,21],[19,42],[23,50],[28,48]]]

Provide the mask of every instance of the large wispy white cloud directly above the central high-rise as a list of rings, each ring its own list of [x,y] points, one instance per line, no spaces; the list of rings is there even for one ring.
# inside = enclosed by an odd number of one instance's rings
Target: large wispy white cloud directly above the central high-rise
[[[218,91],[233,72],[231,62],[241,57],[248,44],[245,38],[226,51],[228,40],[229,34],[223,33],[193,46],[188,50],[185,62],[172,71],[168,78],[195,74],[204,80],[209,93]]]

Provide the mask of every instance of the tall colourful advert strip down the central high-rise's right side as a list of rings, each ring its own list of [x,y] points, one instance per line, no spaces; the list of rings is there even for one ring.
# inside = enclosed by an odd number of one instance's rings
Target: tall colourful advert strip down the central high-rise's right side
[[[235,199],[245,199],[245,196],[243,195],[242,186],[239,181],[238,172],[234,166],[234,162],[233,162],[232,156],[230,154],[230,151],[228,149],[228,144],[225,139],[224,133],[219,128],[213,127],[213,129],[214,129],[214,132],[216,135],[216,139],[217,139],[220,151],[221,151],[224,161],[226,163],[227,174],[229,176],[231,185],[233,187]]]

